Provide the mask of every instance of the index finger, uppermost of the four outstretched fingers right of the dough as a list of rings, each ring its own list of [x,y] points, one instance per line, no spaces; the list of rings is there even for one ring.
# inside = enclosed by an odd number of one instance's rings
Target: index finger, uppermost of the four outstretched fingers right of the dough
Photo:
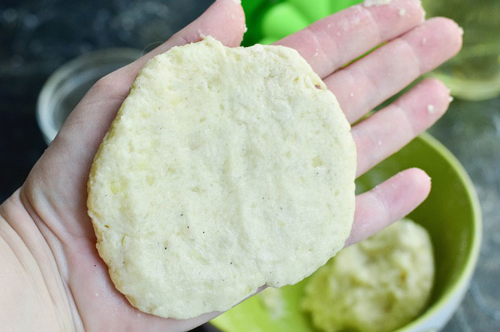
[[[419,0],[392,0],[387,5],[355,5],[275,44],[296,49],[321,77],[373,47],[422,23]]]

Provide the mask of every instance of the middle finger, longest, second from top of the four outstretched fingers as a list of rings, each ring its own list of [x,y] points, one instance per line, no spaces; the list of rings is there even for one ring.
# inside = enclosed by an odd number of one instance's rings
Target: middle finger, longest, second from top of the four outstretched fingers
[[[432,18],[325,79],[349,122],[355,122],[421,74],[453,57],[462,30],[448,18]]]

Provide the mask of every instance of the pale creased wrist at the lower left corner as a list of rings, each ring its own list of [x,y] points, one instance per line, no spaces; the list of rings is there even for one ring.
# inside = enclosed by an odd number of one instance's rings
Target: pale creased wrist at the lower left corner
[[[68,287],[19,190],[0,205],[0,248],[5,331],[74,331]]]

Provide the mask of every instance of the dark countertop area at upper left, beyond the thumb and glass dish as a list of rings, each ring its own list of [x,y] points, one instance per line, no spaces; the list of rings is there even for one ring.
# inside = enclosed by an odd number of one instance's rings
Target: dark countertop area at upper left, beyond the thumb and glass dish
[[[34,112],[49,75],[98,49],[149,51],[210,0],[3,0],[0,3],[0,201],[20,186],[45,150]]]

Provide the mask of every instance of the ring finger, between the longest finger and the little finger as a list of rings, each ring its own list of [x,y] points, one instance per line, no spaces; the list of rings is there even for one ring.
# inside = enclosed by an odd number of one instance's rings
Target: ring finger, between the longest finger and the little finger
[[[443,83],[425,79],[388,107],[353,126],[357,176],[432,126],[448,109],[449,102],[449,89]]]

